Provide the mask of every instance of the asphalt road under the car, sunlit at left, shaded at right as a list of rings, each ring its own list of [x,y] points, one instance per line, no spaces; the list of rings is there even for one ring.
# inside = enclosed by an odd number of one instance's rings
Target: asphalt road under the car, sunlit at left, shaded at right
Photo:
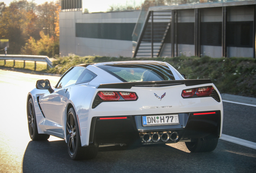
[[[256,150],[219,139],[215,151],[190,153],[184,143],[100,147],[93,160],[72,161],[64,140],[31,141],[27,93],[38,79],[59,77],[0,70],[0,173],[254,173]],[[256,143],[256,107],[223,103],[223,134]]]

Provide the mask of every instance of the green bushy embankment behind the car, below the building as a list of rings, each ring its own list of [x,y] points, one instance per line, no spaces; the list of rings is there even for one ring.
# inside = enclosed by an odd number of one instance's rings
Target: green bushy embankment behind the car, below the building
[[[256,59],[253,58],[211,58],[174,57],[174,58],[125,58],[105,56],[56,57],[54,68],[48,72],[63,74],[68,68],[77,64],[128,61],[128,60],[158,60],[171,64],[188,79],[209,78],[221,93],[256,97]]]

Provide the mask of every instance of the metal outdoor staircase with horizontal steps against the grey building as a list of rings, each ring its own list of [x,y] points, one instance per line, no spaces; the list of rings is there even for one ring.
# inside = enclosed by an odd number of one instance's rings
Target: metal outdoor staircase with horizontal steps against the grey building
[[[171,10],[149,11],[133,57],[158,57],[171,25]]]

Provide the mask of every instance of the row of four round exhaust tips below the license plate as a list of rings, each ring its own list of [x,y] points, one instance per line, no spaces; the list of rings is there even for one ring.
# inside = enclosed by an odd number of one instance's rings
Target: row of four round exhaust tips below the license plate
[[[169,140],[175,142],[178,140],[179,135],[176,131],[164,131],[164,132],[147,132],[142,133],[140,132],[140,138],[144,143],[150,143],[150,142],[167,142]]]

